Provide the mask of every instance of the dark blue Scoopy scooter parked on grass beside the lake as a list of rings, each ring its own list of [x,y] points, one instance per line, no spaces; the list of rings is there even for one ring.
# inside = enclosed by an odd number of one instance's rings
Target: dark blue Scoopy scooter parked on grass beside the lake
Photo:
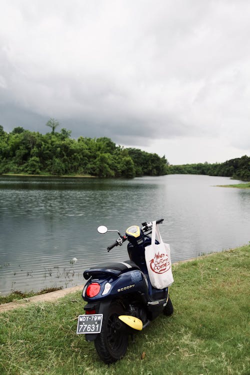
[[[116,231],[119,235],[107,251],[127,240],[129,260],[98,264],[83,272],[87,282],[82,298],[87,304],[85,314],[78,317],[76,333],[94,341],[103,362],[112,363],[125,354],[130,334],[145,328],[160,313],[171,315],[173,306],[168,287],[155,289],[148,277],[144,251],[151,244],[152,222],[143,222],[142,227],[129,226],[125,235],[104,225],[97,230],[101,234]]]

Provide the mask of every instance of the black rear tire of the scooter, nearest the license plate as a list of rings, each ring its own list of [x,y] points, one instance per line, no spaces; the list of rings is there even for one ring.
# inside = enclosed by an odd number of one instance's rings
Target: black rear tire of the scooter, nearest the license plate
[[[119,322],[118,316],[124,314],[124,309],[118,302],[112,302],[107,316],[103,316],[101,332],[94,340],[95,349],[105,363],[116,362],[126,352],[128,335],[115,328]]]

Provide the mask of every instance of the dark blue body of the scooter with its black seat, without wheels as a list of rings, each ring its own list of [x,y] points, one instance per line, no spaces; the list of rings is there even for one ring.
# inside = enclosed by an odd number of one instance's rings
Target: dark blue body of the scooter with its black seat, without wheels
[[[145,246],[151,243],[151,238],[141,232],[136,241],[129,235],[126,239],[131,240],[127,245],[129,260],[102,263],[83,272],[87,282],[82,297],[88,302],[84,310],[86,313],[106,314],[110,303],[118,300],[123,303],[128,314],[142,320],[144,327],[162,312],[167,302],[168,288],[156,289],[150,283],[144,251]],[[93,283],[99,285],[99,291],[94,296],[89,296],[86,291]],[[86,334],[85,338],[92,341],[96,336],[97,334]]]

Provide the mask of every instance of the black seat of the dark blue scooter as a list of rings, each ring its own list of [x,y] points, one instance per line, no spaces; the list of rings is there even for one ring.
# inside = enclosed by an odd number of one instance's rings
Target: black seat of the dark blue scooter
[[[97,264],[94,267],[90,267],[83,272],[83,277],[88,279],[90,276],[101,276],[103,275],[114,275],[119,276],[122,272],[132,270],[132,269],[139,269],[140,268],[135,264],[132,260],[125,260],[112,262],[112,263],[101,263]]]

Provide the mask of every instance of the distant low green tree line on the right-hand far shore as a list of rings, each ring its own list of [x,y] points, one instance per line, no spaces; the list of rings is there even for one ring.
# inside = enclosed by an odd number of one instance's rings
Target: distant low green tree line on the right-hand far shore
[[[223,163],[197,163],[183,165],[169,165],[168,173],[206,174],[213,176],[227,176],[242,181],[250,181],[250,157],[242,156],[226,160]]]

